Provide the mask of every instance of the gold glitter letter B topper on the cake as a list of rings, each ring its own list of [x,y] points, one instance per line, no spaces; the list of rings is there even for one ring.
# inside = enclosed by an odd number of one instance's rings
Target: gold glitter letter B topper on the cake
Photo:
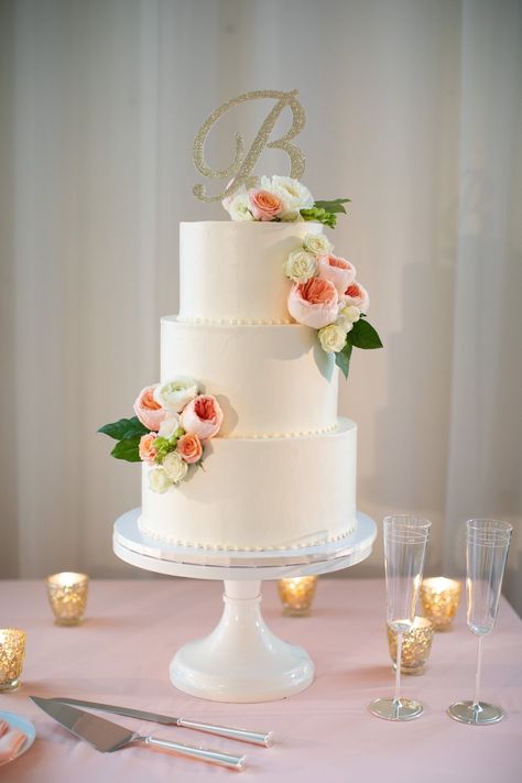
[[[203,176],[211,180],[230,180],[222,193],[217,196],[207,196],[205,185],[194,185],[193,193],[200,202],[220,202],[224,198],[232,196],[240,187],[254,187],[259,177],[252,175],[259,157],[264,148],[283,150],[290,157],[290,176],[293,180],[300,180],[305,168],[305,157],[298,146],[292,144],[292,139],[301,133],[306,122],[306,113],[300,101],[296,98],[297,90],[293,89],[290,93],[280,93],[279,90],[253,90],[252,93],[243,93],[237,98],[228,100],[205,120],[203,126],[194,139],[194,164],[197,171]],[[210,132],[211,127],[230,109],[243,104],[246,100],[257,100],[258,98],[273,98],[276,102],[273,109],[268,115],[261,126],[255,139],[250,146],[250,150],[244,152],[244,139],[241,133],[236,133],[236,156],[228,168],[214,170],[210,168],[205,160],[205,141]],[[279,116],[289,107],[292,111],[292,126],[289,131],[275,141],[269,141],[270,134],[274,128]]]

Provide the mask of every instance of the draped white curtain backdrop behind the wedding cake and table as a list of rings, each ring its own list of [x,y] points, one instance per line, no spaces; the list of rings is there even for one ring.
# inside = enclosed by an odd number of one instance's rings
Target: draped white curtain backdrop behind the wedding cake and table
[[[157,378],[180,220],[227,219],[192,196],[197,129],[233,95],[297,87],[303,180],[352,198],[336,249],[385,345],[341,383],[359,508],[432,519],[433,574],[461,569],[465,519],[511,520],[522,610],[522,3],[4,0],[0,14],[0,575],[140,576],[111,551],[139,467],[96,429]],[[263,172],[286,170],[275,155]],[[381,563],[378,544],[354,575]]]

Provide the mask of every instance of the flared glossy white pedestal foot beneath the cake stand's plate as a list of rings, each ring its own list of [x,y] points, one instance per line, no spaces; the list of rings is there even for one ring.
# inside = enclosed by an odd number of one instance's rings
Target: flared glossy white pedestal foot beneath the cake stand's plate
[[[314,664],[298,646],[278,639],[260,609],[261,581],[225,580],[225,608],[216,629],[174,655],[176,688],[215,702],[272,702],[304,690]]]

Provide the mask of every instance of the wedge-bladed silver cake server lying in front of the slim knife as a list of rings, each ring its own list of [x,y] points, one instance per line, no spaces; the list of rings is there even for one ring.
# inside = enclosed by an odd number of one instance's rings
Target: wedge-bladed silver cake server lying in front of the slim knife
[[[230,753],[222,753],[217,750],[210,750],[209,748],[194,748],[189,744],[171,742],[171,740],[164,740],[157,737],[139,735],[137,731],[131,731],[124,726],[119,726],[119,724],[113,724],[111,720],[106,720],[106,718],[85,713],[83,709],[69,707],[69,705],[63,704],[62,702],[56,702],[52,698],[39,698],[37,696],[30,696],[30,698],[37,707],[43,709],[44,713],[57,720],[58,724],[62,724],[62,726],[72,731],[76,737],[89,742],[89,744],[102,753],[112,753],[112,751],[120,750],[120,748],[124,748],[131,744],[131,742],[144,742],[145,744],[152,744],[156,748],[174,750],[176,753],[188,755],[192,759],[199,759],[200,761],[209,761],[220,766],[228,766],[239,772],[241,772],[244,766],[244,755],[231,755]]]

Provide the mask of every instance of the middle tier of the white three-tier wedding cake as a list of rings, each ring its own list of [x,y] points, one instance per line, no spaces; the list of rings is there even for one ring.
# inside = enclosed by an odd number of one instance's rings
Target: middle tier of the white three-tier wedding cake
[[[314,329],[162,318],[161,379],[191,376],[222,407],[222,437],[282,437],[337,427],[338,376]]]

